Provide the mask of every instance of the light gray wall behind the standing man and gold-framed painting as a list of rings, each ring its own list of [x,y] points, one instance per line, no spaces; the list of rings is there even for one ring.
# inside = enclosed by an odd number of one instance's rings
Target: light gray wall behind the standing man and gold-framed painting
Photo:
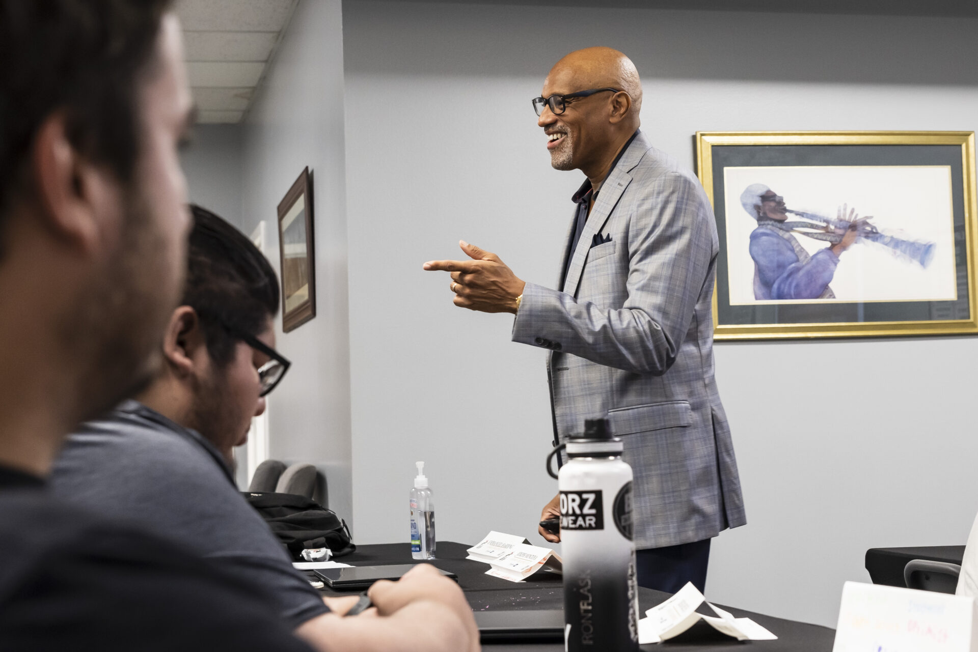
[[[421,264],[460,257],[464,238],[554,282],[581,175],[550,168],[529,100],[561,55],[629,54],[643,128],[689,167],[697,130],[978,127],[974,19],[343,9],[362,543],[406,539],[416,459],[439,538],[542,541],[534,523],[556,489],[544,355],[510,343],[511,317],[454,308],[447,276]],[[868,547],[964,543],[978,508],[978,340],[721,343],[716,357],[749,524],[715,540],[708,597],[834,626],[843,581],[868,581]]]

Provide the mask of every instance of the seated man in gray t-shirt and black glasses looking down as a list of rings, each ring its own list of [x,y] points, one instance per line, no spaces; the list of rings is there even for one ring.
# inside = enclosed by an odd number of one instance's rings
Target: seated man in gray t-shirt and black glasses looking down
[[[362,628],[354,628],[359,631],[348,626],[361,616],[336,627],[331,607],[344,613],[349,598],[328,606],[235,486],[232,449],[244,443],[251,417],[264,412],[264,396],[289,365],[274,349],[279,285],[244,235],[207,210],[193,211],[187,284],[164,334],[163,369],[136,400],[68,437],[51,489],[265,588],[285,622],[306,640],[327,649],[374,649],[372,642],[384,641],[381,649],[392,649],[388,634],[396,627],[370,611]],[[419,570],[427,575],[431,569]],[[442,615],[430,611],[433,603],[417,605],[413,620],[430,636],[422,647],[477,650],[465,598],[447,585],[431,586],[431,594],[452,592],[448,601],[458,607],[460,622],[446,628]]]

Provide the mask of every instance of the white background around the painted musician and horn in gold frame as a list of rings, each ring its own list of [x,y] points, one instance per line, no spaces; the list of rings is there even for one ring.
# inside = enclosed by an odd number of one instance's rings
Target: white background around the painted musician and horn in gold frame
[[[761,301],[754,298],[750,234],[757,221],[740,194],[765,184],[789,209],[834,219],[839,206],[871,215],[880,232],[934,243],[924,268],[878,244],[857,241],[839,258],[829,286],[835,299]],[[946,165],[787,166],[724,168],[731,305],[761,303],[953,301],[957,298],[951,168]],[[794,216],[788,216],[792,220]],[[830,243],[794,233],[810,254]]]

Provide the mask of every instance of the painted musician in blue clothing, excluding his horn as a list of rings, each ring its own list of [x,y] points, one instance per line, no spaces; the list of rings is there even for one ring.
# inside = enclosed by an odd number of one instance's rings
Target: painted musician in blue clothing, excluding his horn
[[[755,299],[835,298],[828,283],[835,274],[839,256],[856,240],[855,230],[838,233],[838,242],[810,254],[791,235],[784,197],[764,184],[751,184],[740,195],[740,205],[757,220],[757,228],[750,234]],[[845,212],[845,207],[840,208],[840,220],[856,222],[855,210],[849,215]]]

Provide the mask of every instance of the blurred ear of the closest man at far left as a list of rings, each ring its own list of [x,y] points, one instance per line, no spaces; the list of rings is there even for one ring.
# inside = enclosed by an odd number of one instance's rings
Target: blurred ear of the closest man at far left
[[[40,224],[67,255],[97,255],[118,242],[121,189],[107,167],[71,144],[64,111],[52,113],[38,129],[30,172]]]

